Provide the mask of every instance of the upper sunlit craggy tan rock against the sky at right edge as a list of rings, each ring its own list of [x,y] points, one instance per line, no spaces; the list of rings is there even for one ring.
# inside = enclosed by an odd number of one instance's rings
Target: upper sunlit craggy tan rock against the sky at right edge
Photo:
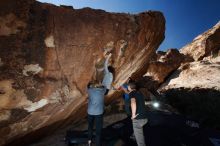
[[[180,52],[192,57],[195,61],[218,53],[220,49],[220,22],[213,28],[197,36],[192,43],[186,45]]]

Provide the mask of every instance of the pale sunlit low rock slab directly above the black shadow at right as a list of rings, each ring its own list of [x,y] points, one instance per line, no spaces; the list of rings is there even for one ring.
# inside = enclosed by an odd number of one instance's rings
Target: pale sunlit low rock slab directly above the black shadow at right
[[[186,63],[163,84],[163,90],[203,88],[220,91],[220,64],[209,61]]]

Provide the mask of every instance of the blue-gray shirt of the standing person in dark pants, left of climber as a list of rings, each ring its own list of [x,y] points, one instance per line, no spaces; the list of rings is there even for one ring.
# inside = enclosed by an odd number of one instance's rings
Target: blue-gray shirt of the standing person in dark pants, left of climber
[[[103,114],[105,92],[106,88],[88,88],[89,102],[87,112],[89,115]]]

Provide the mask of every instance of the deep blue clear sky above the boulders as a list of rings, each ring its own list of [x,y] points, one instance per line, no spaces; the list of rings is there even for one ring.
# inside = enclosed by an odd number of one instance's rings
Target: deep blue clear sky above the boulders
[[[163,12],[165,40],[159,50],[181,48],[220,21],[220,0],[38,0],[75,9],[91,7],[108,12]]]

